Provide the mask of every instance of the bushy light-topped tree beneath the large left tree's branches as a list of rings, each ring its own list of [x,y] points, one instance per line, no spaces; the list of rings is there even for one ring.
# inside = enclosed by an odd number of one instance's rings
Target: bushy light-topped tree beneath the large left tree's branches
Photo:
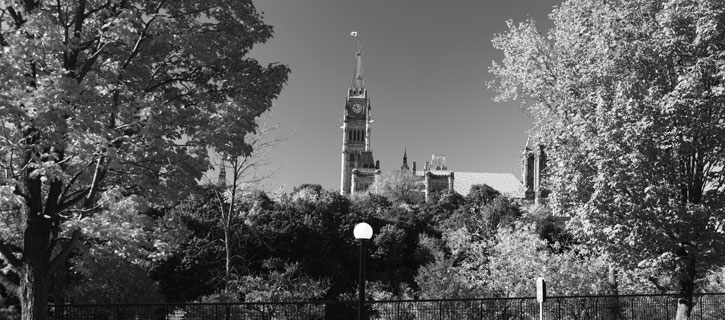
[[[52,277],[53,303],[165,302],[148,271],[178,249],[188,230],[119,188],[101,194],[98,206],[93,216],[64,222],[66,232],[80,230],[83,236],[68,268],[59,267]],[[134,291],[144,292],[129,294]]]

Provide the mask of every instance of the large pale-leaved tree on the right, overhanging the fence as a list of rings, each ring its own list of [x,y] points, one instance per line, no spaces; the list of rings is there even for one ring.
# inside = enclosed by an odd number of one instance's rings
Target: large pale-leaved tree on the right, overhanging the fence
[[[496,35],[491,87],[547,147],[554,211],[624,268],[669,271],[677,319],[723,262],[725,4],[565,1]]]

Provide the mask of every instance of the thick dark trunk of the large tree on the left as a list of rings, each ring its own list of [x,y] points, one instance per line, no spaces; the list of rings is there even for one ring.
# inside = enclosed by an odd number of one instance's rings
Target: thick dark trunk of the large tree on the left
[[[20,271],[22,320],[45,320],[48,317],[50,222],[34,212],[27,219],[23,235],[23,265]]]

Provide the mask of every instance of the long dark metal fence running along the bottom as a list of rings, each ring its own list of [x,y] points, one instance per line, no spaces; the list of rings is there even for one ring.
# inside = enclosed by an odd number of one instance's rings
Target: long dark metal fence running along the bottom
[[[280,302],[164,305],[58,305],[51,320],[355,320],[356,302]],[[547,320],[674,319],[674,295],[551,297]],[[535,298],[370,301],[370,320],[536,320]],[[695,297],[692,320],[725,319],[725,294]]]

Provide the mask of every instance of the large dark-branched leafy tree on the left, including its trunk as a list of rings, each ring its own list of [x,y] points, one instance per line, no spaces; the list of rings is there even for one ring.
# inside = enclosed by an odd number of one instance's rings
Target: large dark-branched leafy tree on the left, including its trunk
[[[0,5],[0,194],[22,203],[23,231],[0,253],[24,320],[46,318],[47,279],[80,237],[62,222],[93,215],[108,186],[168,203],[208,149],[252,151],[289,72],[246,57],[271,35],[250,1]]]

